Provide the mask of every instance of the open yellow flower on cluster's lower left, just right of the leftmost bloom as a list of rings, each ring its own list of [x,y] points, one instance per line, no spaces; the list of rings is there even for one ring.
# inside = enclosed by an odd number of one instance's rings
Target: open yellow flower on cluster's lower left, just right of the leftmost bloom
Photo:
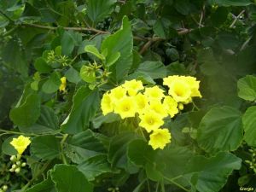
[[[131,96],[125,96],[115,103],[114,113],[118,113],[122,119],[134,117],[136,113],[136,103]]]

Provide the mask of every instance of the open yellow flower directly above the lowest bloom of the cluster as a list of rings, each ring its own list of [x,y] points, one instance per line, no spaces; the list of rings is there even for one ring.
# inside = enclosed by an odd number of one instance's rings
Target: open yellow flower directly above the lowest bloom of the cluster
[[[154,111],[145,111],[145,113],[140,116],[141,122],[139,123],[146,131],[154,131],[160,128],[164,124],[164,121],[160,114],[155,113]]]

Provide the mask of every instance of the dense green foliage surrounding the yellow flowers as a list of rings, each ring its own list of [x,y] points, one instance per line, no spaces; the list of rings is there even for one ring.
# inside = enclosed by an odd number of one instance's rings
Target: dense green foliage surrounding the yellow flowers
[[[255,24],[253,0],[0,0],[0,191],[256,189]],[[102,115],[106,91],[169,75],[202,98],[163,150]],[[32,143],[9,172],[17,135]]]

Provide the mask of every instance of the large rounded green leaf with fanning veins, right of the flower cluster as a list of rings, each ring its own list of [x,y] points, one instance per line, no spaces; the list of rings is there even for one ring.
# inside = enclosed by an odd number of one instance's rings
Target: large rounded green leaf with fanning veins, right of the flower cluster
[[[236,108],[212,108],[201,119],[197,141],[208,153],[234,151],[242,141],[241,113]]]

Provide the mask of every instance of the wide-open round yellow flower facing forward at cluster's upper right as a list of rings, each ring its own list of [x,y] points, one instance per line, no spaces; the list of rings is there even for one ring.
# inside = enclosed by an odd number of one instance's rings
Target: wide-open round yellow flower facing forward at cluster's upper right
[[[189,84],[186,81],[183,79],[176,79],[172,81],[172,83],[168,86],[168,93],[176,102],[186,102],[189,100],[191,96],[191,90]]]

